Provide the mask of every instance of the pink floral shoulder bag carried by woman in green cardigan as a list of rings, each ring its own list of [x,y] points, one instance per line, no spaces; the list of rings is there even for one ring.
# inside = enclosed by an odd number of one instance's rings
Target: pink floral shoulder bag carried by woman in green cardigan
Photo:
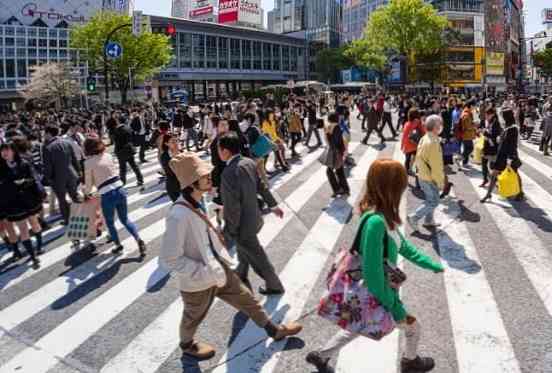
[[[369,218],[365,219],[363,224]],[[370,293],[362,278],[361,256],[357,251],[363,224],[359,227],[353,247],[343,248],[333,263],[326,278],[327,292],[318,305],[318,314],[342,329],[380,340],[396,326],[393,316]],[[388,281],[399,273],[399,283],[406,275],[392,265],[386,265],[387,233],[384,236],[384,271]],[[385,269],[387,268],[387,269]],[[401,280],[402,279],[402,280]],[[394,280],[393,280],[394,281]]]

